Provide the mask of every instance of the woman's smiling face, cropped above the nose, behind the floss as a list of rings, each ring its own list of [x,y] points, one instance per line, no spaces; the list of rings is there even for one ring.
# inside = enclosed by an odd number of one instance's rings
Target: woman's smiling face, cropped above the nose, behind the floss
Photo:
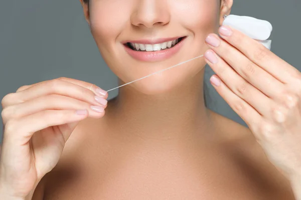
[[[220,0],[90,0],[89,11],[84,5],[103,59],[123,82],[204,54],[222,8]],[[146,94],[166,92],[204,65],[197,58],[130,85]]]

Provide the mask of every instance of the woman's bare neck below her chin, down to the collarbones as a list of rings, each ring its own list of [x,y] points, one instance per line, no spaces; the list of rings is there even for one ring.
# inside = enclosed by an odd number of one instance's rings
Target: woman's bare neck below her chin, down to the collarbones
[[[184,138],[212,129],[204,103],[204,68],[173,91],[157,95],[121,87],[106,109],[112,129],[143,138]]]

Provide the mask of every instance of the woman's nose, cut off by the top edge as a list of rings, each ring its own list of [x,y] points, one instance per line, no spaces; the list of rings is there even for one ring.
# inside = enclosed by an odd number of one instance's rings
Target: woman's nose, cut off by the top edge
[[[166,0],[138,0],[131,15],[131,23],[138,27],[152,28],[168,24],[170,18]]]

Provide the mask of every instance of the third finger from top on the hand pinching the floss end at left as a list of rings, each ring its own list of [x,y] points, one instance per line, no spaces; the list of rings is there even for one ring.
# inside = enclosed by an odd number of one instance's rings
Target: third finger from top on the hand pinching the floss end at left
[[[94,109],[94,107],[91,107],[92,105],[98,106],[98,109]],[[31,99],[23,103],[7,106],[2,110],[2,118],[3,123],[6,124],[6,122],[12,118],[24,117],[26,115],[48,109],[87,109],[90,117],[99,118],[102,117],[102,112],[106,105],[107,104],[101,104],[97,101],[90,104],[68,96],[51,94]]]

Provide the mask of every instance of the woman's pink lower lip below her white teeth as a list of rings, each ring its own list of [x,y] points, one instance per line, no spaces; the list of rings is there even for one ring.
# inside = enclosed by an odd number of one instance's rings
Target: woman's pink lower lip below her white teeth
[[[172,48],[167,48],[164,50],[158,50],[158,51],[136,51],[128,47],[127,45],[124,45],[126,52],[132,56],[133,58],[140,60],[140,61],[162,61],[164,59],[168,59],[172,57],[174,54],[176,54],[180,48],[183,46],[184,40],[186,37],[184,37],[179,43],[177,43]]]

